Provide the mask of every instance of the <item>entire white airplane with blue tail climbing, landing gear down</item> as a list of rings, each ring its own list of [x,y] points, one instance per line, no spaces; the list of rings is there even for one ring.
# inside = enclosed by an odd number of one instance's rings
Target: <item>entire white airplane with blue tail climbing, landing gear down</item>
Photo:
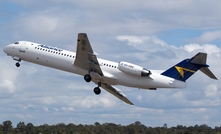
[[[78,34],[76,53],[29,41],[9,44],[3,51],[17,61],[17,67],[21,61],[27,61],[82,75],[86,82],[93,81],[97,85],[94,88],[96,95],[101,93],[102,87],[130,105],[134,104],[113,85],[147,90],[185,88],[186,80],[197,70],[212,79],[217,79],[206,64],[206,53],[199,52],[164,71],[150,70],[126,61],[113,62],[97,58],[98,55],[93,51],[86,33]]]

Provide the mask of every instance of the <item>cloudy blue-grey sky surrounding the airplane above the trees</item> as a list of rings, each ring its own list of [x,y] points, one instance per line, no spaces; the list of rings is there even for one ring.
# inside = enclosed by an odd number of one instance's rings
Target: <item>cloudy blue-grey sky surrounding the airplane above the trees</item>
[[[33,41],[71,51],[88,34],[99,58],[165,70],[198,52],[220,79],[221,2],[218,0],[0,0],[0,45]],[[117,86],[130,106],[82,76],[22,62],[0,53],[0,122],[13,126],[112,122],[146,126],[221,125],[221,84],[200,71],[184,89]]]

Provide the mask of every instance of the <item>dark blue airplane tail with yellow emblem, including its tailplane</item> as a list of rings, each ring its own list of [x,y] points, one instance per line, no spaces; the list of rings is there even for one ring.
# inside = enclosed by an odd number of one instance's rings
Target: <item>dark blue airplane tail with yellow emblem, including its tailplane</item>
[[[217,79],[216,76],[209,70],[209,65],[206,64],[207,54],[198,53],[191,59],[185,59],[170,69],[162,73],[162,75],[186,81],[196,71],[200,70],[212,79]]]

